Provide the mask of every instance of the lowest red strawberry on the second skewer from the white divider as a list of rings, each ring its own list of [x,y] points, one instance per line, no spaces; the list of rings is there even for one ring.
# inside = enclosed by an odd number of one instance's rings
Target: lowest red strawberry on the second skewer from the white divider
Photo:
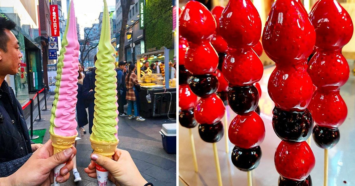
[[[194,112],[198,123],[213,124],[223,118],[225,107],[223,101],[212,94],[211,97],[201,98]]]

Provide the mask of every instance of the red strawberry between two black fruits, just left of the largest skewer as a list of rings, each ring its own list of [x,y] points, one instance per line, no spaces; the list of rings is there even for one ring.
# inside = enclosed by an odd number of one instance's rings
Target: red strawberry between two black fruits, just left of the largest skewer
[[[229,125],[228,137],[231,143],[240,148],[259,146],[265,137],[264,122],[256,112],[236,115]]]

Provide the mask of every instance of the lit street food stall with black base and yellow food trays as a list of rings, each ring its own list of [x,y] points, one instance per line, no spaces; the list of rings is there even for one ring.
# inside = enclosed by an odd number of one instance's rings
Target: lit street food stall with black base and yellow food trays
[[[162,57],[160,57],[162,56]],[[148,58],[164,59],[164,64],[158,67],[162,73],[152,73],[151,69],[141,72],[141,66]],[[176,79],[171,79],[169,70],[169,49],[162,49],[153,52],[146,52],[137,55],[137,77],[141,84],[139,92],[139,113],[144,118],[158,116],[174,117],[176,113]],[[158,61],[153,60],[151,62]],[[167,72],[167,73],[166,73]]]

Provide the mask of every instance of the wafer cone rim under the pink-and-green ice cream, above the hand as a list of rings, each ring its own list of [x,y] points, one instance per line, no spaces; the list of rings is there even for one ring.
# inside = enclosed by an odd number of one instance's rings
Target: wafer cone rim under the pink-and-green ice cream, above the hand
[[[71,148],[75,143],[75,136],[59,136],[55,134],[50,134],[50,139],[52,140],[53,154],[61,152],[67,148]]]

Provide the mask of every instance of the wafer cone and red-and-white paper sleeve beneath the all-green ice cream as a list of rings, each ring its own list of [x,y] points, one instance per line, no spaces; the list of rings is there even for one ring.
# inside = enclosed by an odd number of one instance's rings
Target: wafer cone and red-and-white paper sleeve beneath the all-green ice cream
[[[106,156],[111,158],[112,155],[115,153],[115,149],[117,148],[117,144],[119,141],[116,142],[108,142],[108,141],[91,141],[91,148],[94,150],[93,153],[100,154],[102,156]],[[97,175],[97,185],[98,186],[106,186],[109,172],[101,167],[100,165],[96,164],[96,175]]]

